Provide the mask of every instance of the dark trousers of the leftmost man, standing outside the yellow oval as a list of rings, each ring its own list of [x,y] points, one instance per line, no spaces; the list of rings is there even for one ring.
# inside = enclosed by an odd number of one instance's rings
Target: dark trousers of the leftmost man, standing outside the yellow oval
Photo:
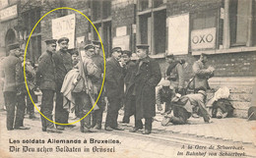
[[[7,130],[13,130],[14,128],[23,127],[24,113],[26,109],[25,101],[23,102],[21,100],[20,102],[20,100],[18,100],[21,96],[17,96],[16,91],[5,91],[4,97],[7,109]],[[17,103],[17,100],[18,103],[20,102],[19,104]],[[16,111],[15,106],[17,106]]]

